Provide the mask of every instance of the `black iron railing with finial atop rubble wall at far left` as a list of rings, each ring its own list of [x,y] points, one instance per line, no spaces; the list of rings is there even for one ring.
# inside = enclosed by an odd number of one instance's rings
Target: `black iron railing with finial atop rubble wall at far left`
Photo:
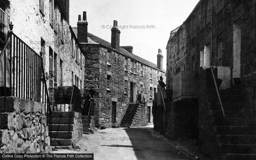
[[[47,125],[50,130],[50,137],[52,137],[52,110],[50,108],[43,59],[15,35],[12,32],[12,28],[13,25],[11,23],[7,41],[0,53],[0,63],[4,65],[4,69],[2,70],[4,77],[0,77],[1,82],[3,80],[3,84],[0,84],[0,87],[4,89],[4,93],[0,95],[4,96],[3,111],[7,112],[7,96],[43,103]]]

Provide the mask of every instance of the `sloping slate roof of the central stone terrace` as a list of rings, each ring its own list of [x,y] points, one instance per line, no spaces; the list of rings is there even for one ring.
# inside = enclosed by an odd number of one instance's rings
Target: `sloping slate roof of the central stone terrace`
[[[77,27],[72,27],[72,29],[73,29],[76,37],[77,37]],[[150,67],[152,67],[154,69],[159,70],[157,68],[157,64],[154,64],[154,63],[152,63],[152,62],[150,62],[148,60],[145,60],[144,58],[141,58],[141,57],[139,57],[139,56],[137,56],[135,54],[131,54],[127,50],[125,50],[125,49],[123,49],[121,47],[119,49],[117,49],[117,50],[113,49],[111,47],[111,43],[110,42],[105,41],[104,39],[101,39],[101,38],[99,38],[99,37],[97,37],[97,36],[95,36],[95,35],[93,35],[91,33],[88,33],[88,44],[99,44],[99,45],[108,47],[109,49],[115,50],[116,52],[119,52],[119,53],[123,54],[125,57],[131,58],[132,60],[135,60],[137,62],[140,62],[140,63],[144,64],[144,65],[147,65],[147,66],[150,66]],[[162,72],[166,73],[166,71],[164,69],[159,70],[159,71],[162,71]]]

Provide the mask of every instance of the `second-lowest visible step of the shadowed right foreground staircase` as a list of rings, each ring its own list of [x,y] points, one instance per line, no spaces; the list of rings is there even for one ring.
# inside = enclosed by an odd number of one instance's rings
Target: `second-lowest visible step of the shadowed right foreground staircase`
[[[221,151],[223,151],[223,146],[225,153],[247,153],[255,154],[256,153],[256,144],[219,144]]]

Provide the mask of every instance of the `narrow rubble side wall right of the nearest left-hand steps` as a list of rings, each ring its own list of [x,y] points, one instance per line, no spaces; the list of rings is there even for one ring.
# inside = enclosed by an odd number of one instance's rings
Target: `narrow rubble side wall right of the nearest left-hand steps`
[[[74,112],[72,144],[75,145],[83,136],[82,113]]]

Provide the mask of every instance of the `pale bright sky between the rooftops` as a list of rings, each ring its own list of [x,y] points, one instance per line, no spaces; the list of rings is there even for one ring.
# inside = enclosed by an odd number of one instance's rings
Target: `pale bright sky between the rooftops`
[[[180,26],[199,0],[70,0],[69,21],[76,27],[86,11],[88,32],[111,42],[111,26],[117,20],[120,46],[133,46],[133,54],[157,64],[162,50],[166,69],[166,45],[170,31]],[[123,27],[123,29],[122,29]]]

